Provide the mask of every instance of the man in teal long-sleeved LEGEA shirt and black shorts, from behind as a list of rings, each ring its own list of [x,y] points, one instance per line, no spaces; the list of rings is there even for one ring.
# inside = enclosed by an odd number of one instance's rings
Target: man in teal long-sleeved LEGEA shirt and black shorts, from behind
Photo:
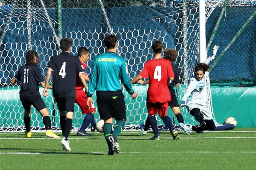
[[[108,144],[108,155],[115,155],[119,153],[119,143],[116,138],[125,127],[126,119],[125,98],[122,94],[119,77],[133,99],[137,97],[137,93],[131,87],[127,62],[116,54],[117,37],[108,35],[104,38],[104,43],[107,52],[93,60],[87,105],[89,107],[92,105],[91,96],[96,90],[99,115],[105,122],[104,135]],[[116,124],[112,133],[113,118],[116,119]]]

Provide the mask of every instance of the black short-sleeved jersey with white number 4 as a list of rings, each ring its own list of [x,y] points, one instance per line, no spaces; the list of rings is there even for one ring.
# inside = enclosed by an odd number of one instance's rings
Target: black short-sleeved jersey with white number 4
[[[54,97],[76,97],[76,74],[84,73],[78,57],[63,52],[51,57],[45,68],[53,71],[52,94]]]

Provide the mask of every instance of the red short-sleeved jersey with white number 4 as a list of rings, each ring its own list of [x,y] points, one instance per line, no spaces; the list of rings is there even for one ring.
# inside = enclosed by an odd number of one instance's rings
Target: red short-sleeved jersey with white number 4
[[[145,79],[149,76],[147,101],[151,103],[164,103],[171,100],[167,86],[168,77],[174,77],[172,63],[167,59],[151,59],[144,65],[140,76]]]

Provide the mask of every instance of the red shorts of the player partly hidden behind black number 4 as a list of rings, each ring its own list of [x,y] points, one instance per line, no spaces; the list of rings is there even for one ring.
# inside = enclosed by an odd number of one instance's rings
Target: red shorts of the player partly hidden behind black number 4
[[[83,89],[76,90],[76,103],[80,106],[83,114],[93,113],[96,110],[95,107],[91,107],[90,109],[88,108],[87,99],[88,97],[86,96]]]

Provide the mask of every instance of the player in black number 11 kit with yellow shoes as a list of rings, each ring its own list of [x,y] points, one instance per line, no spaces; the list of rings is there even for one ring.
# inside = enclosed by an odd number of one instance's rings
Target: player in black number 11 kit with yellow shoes
[[[31,105],[43,116],[43,122],[46,129],[46,136],[51,138],[60,138],[55,135],[51,130],[51,120],[49,117],[49,111],[41,98],[38,85],[45,88],[52,88],[48,84],[44,84],[39,67],[36,65],[39,61],[39,56],[36,51],[28,51],[26,53],[26,64],[23,65],[15,77],[11,80],[11,83],[20,81],[20,101],[24,108],[24,124],[26,127],[25,135],[31,138],[32,132],[30,131],[30,117],[31,117]]]

